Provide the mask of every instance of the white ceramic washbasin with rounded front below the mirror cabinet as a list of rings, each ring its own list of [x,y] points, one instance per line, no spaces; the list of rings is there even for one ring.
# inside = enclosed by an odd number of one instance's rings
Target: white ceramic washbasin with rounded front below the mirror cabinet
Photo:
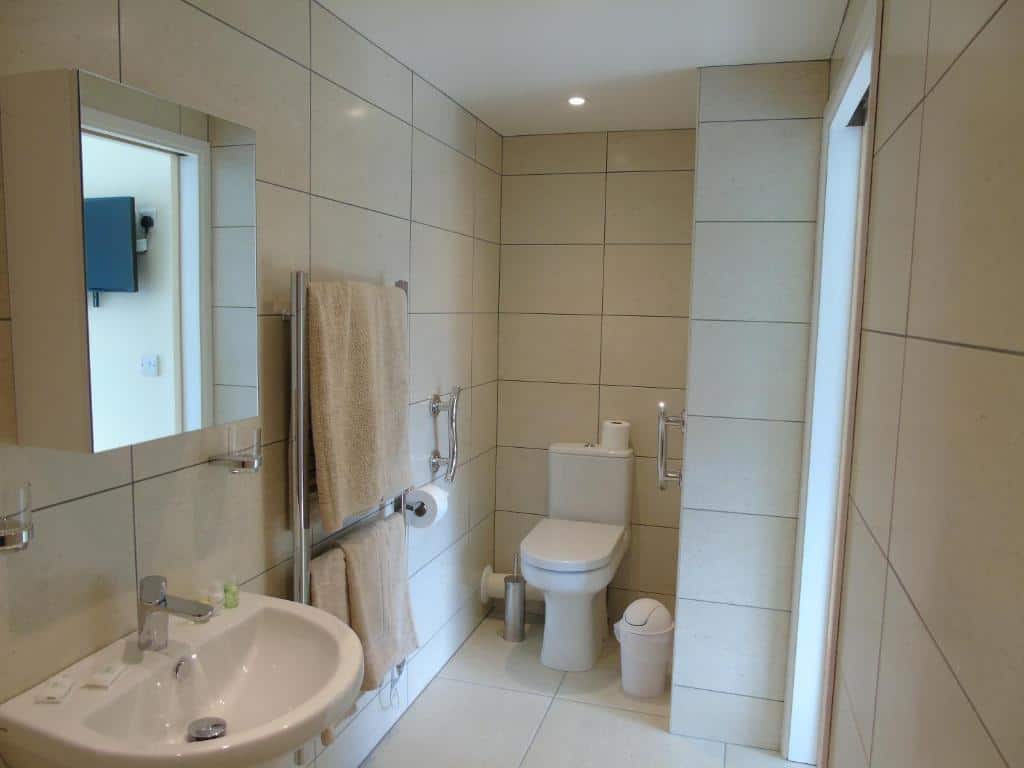
[[[179,659],[187,675],[175,676]],[[109,689],[84,687],[112,660],[128,669]],[[67,671],[61,703],[41,686],[0,705],[0,755],[10,768],[251,768],[299,749],[351,708],[362,682],[355,634],[324,611],[244,594],[208,624],[171,618],[166,650],[140,652],[132,634]],[[189,742],[188,723],[227,721]]]

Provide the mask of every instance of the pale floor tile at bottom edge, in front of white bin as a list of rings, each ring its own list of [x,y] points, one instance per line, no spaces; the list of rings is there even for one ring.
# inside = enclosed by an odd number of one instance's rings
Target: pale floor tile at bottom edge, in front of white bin
[[[556,699],[523,768],[721,768],[723,750],[672,735],[665,717]]]

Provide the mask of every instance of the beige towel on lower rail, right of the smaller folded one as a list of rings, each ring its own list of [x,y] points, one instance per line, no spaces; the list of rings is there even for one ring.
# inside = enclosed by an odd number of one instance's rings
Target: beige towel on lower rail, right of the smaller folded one
[[[348,575],[348,613],[362,641],[362,690],[376,690],[388,671],[418,647],[409,599],[406,520],[393,514],[341,540]]]

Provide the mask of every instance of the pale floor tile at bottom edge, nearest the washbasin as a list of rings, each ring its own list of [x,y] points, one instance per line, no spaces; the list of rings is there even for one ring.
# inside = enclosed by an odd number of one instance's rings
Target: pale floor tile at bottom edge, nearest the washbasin
[[[370,768],[516,768],[550,698],[436,679],[376,752]]]

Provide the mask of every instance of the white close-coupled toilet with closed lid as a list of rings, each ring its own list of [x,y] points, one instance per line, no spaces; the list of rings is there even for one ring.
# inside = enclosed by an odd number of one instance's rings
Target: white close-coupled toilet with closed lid
[[[548,450],[548,517],[522,540],[526,582],[544,592],[541,662],[591,669],[608,634],[605,593],[630,543],[633,449],[557,442]]]

